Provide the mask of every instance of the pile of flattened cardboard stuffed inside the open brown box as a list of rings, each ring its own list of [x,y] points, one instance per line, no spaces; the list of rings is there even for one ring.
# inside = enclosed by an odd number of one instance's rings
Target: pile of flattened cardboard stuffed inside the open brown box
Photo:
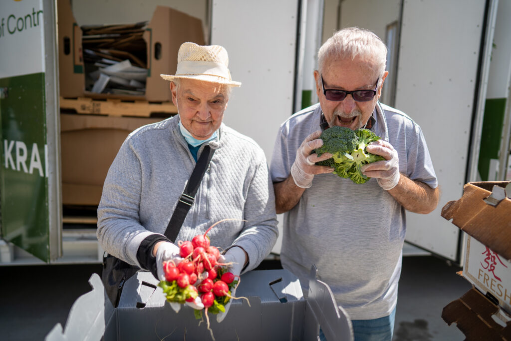
[[[83,26],[85,89],[95,94],[144,95],[147,22]]]

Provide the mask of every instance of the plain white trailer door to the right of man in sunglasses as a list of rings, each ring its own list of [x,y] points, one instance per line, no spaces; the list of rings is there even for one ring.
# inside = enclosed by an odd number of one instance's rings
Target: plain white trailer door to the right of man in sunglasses
[[[421,126],[440,187],[436,210],[407,213],[406,240],[457,262],[460,231],[440,212],[476,180],[496,7],[492,0],[403,1],[396,107]]]

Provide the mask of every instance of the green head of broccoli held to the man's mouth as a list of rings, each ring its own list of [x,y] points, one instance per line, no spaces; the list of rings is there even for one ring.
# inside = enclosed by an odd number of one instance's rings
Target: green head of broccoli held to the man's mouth
[[[381,138],[369,129],[351,130],[347,127],[333,126],[324,130],[320,137],[323,145],[315,150],[316,154],[331,153],[332,158],[317,162],[319,166],[334,168],[334,174],[352,179],[356,184],[364,184],[369,177],[360,170],[365,164],[385,160],[383,156],[367,152],[367,145]]]

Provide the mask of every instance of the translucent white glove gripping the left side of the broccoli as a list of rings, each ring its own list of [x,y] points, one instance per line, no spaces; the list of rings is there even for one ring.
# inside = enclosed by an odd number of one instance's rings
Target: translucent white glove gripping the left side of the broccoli
[[[319,157],[316,153],[312,153],[314,149],[323,145],[323,140],[319,139],[319,135],[321,135],[320,130],[310,134],[296,151],[296,158],[291,166],[291,175],[298,187],[309,188],[312,186],[314,175],[332,173],[334,171],[331,167],[315,165],[318,161],[327,160],[332,157],[332,154],[329,153],[321,154]]]

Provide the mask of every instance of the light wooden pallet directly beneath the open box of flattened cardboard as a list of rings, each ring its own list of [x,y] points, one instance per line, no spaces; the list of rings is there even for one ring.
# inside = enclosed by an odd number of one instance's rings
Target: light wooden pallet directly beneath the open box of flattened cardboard
[[[77,113],[151,117],[152,114],[175,115],[177,108],[172,102],[151,103],[148,101],[125,101],[120,99],[97,100],[86,97],[74,99],[60,97],[60,108],[71,109]]]

